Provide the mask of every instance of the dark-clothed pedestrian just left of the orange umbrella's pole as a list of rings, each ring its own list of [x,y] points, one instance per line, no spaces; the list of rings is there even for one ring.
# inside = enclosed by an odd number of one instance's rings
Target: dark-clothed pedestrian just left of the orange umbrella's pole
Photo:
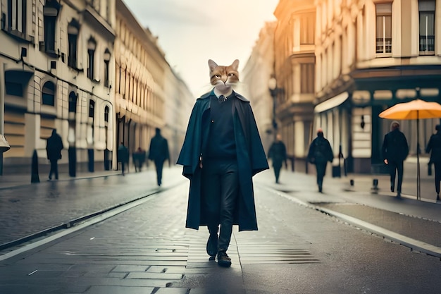
[[[389,167],[390,173],[390,192],[395,191],[395,176],[397,179],[397,197],[401,197],[403,183],[404,166],[403,161],[409,154],[406,136],[399,130],[399,123],[392,121],[390,132],[385,135],[383,140],[383,160]]]

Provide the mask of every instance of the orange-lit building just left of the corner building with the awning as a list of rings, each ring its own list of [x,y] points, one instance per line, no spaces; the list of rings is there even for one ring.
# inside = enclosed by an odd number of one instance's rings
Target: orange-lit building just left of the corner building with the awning
[[[316,7],[303,0],[281,0],[275,8],[274,77],[278,133],[292,159],[292,170],[308,169],[306,155],[313,125]]]

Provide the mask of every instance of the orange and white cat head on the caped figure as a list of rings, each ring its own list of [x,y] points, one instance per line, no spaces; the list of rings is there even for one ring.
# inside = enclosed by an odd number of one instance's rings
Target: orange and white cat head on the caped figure
[[[230,66],[218,66],[218,64],[209,59],[210,82],[216,90],[228,92],[239,82],[239,61],[236,59]]]

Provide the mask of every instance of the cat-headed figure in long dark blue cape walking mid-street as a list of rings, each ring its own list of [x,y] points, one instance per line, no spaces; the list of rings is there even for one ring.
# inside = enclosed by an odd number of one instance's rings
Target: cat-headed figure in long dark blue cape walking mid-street
[[[269,168],[249,101],[227,86],[238,62],[225,70],[209,61],[216,86],[194,104],[177,162],[190,179],[186,226],[208,227],[207,253],[223,267],[233,224],[257,230],[252,177]]]

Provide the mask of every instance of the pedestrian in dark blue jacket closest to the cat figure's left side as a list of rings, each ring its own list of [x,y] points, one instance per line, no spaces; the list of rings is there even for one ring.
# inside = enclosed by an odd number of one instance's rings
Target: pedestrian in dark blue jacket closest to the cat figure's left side
[[[160,186],[162,183],[162,168],[164,161],[168,160],[170,166],[170,154],[168,153],[168,142],[165,137],[161,135],[161,129],[156,128],[156,134],[151,138],[149,148],[149,159],[154,161],[156,168],[156,180]]]

